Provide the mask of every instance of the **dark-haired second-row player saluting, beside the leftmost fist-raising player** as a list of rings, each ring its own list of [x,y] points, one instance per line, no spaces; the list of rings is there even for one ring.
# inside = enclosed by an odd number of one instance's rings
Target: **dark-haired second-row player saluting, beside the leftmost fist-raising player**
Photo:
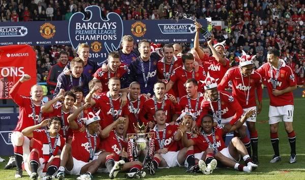
[[[68,116],[72,113],[72,107],[76,100],[74,93],[68,91],[65,94],[59,93],[56,98],[52,99],[45,103],[41,109],[43,112],[49,113],[52,117],[60,118],[62,129],[59,131],[59,134],[68,140],[69,133],[69,123]],[[63,101],[61,105],[55,105],[57,101]]]

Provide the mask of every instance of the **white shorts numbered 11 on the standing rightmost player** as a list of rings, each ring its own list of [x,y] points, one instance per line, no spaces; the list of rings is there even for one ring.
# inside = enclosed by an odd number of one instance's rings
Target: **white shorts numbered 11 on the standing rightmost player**
[[[293,122],[293,105],[269,106],[269,125],[281,122]]]

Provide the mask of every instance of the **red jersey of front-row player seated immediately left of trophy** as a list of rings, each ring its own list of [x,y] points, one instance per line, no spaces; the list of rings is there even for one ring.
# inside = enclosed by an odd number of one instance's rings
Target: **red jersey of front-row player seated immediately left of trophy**
[[[117,135],[119,142],[122,148],[125,148],[124,151],[127,151],[127,143],[124,139]],[[114,154],[114,160],[119,160],[119,154],[121,153],[122,149],[119,146],[119,143],[115,137],[114,130],[110,131],[109,136],[105,139],[101,139],[100,149],[105,149],[106,152]]]

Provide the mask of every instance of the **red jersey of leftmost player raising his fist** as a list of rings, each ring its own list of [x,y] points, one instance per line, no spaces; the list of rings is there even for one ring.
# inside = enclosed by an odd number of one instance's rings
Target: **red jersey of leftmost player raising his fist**
[[[19,119],[17,122],[17,126],[14,131],[21,132],[24,128],[34,126],[34,118],[33,118],[33,109],[32,109],[32,103],[31,98],[24,97],[19,95],[18,89],[22,82],[17,81],[17,83],[11,88],[10,91],[10,97],[14,100],[14,102],[19,106]],[[36,123],[38,123],[39,114],[40,114],[40,108],[41,106],[37,106],[34,104],[35,108],[35,120]],[[45,117],[48,117],[48,113],[42,113],[41,122]]]

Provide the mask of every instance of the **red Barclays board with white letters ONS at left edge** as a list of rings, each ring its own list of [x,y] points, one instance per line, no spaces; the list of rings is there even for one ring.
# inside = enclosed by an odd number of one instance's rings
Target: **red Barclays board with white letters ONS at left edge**
[[[0,99],[9,99],[13,85],[24,75],[31,76],[24,82],[18,94],[28,96],[31,86],[36,84],[36,54],[29,45],[0,47]]]

